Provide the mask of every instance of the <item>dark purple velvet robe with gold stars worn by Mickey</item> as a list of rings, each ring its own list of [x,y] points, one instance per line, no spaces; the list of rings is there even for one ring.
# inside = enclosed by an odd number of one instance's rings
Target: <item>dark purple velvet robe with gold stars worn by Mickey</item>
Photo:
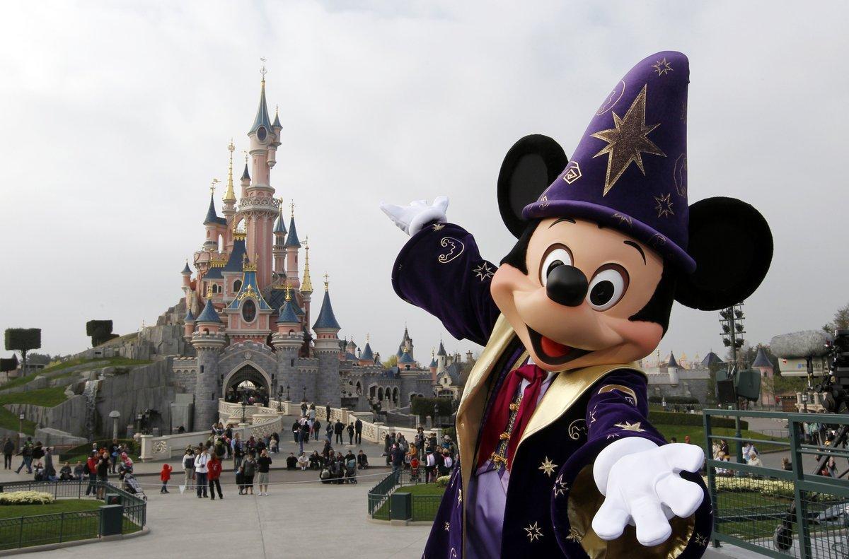
[[[435,224],[425,226],[403,247],[392,271],[392,285],[402,299],[439,318],[455,338],[486,344],[500,314],[490,294],[496,268],[481,258],[469,232],[453,224]],[[498,389],[523,351],[514,337],[486,379],[488,396],[481,426],[486,425]],[[573,529],[567,514],[573,483],[585,467],[592,467],[595,456],[615,440],[643,437],[655,444],[666,444],[649,424],[648,413],[645,377],[631,369],[614,369],[554,422],[522,442],[514,456],[503,501],[481,495],[481,491],[492,490],[492,484],[481,484],[480,478],[473,478],[469,488],[462,487],[462,468],[476,470],[477,465],[458,463],[436,513],[423,557],[459,558],[464,554],[464,543],[468,546],[469,542],[474,545],[476,556],[492,554],[492,550],[500,548],[503,557],[586,557],[581,545],[585,534]],[[475,444],[479,444],[482,430],[479,429]],[[685,472],[682,477],[700,484],[705,498],[678,556],[699,557],[711,534],[710,498],[700,476]],[[475,494],[469,495],[469,490]],[[464,506],[469,500],[474,504],[481,499],[492,506],[503,506],[501,526],[481,526],[479,513],[474,518],[467,517],[464,527]],[[499,513],[490,516],[498,517]],[[475,532],[464,534],[464,528]],[[500,544],[487,544],[486,539],[500,539]]]

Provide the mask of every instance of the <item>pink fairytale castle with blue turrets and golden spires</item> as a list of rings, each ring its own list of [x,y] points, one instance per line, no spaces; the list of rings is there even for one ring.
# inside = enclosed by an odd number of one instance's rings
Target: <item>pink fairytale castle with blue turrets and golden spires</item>
[[[421,366],[405,329],[398,365],[386,369],[368,340],[363,349],[340,340],[326,274],[313,309],[307,239],[298,236],[295,204],[275,198],[272,186],[283,127],[276,113],[268,115],[264,69],[262,76],[245,170],[237,185],[231,142],[221,212],[213,183],[203,245],[182,272],[184,330],[172,372],[178,391],[194,396],[194,428],[216,421],[218,400],[238,400],[244,387],[361,411],[375,403],[403,407],[417,395],[456,395],[459,355],[441,344],[441,355]]]

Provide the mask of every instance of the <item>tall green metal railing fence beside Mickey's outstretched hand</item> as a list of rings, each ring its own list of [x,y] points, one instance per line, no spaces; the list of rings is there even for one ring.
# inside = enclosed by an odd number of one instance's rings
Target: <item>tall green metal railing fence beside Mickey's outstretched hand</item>
[[[745,444],[749,439],[714,435],[717,418],[751,417],[787,422],[787,440],[771,441],[780,450],[770,456],[775,467],[756,467],[715,460],[711,443],[725,439]],[[806,424],[817,422],[831,433],[806,442]],[[845,433],[849,416],[706,410],[704,412],[707,485],[714,511],[714,545],[726,542],[771,557],[801,559],[849,556],[849,451]],[[829,440],[830,439],[830,440]],[[822,444],[820,444],[822,440]],[[761,441],[751,441],[758,444]],[[734,456],[734,453],[732,453]],[[790,458],[790,470],[780,469],[780,457]],[[814,473],[835,459],[833,477]]]

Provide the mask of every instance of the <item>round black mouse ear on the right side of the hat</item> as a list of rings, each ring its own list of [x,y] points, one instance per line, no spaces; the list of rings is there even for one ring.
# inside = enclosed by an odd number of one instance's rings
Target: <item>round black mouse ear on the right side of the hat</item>
[[[751,205],[706,198],[689,208],[687,252],[696,270],[678,277],[675,300],[693,309],[724,309],[761,285],[773,260],[773,234]]]

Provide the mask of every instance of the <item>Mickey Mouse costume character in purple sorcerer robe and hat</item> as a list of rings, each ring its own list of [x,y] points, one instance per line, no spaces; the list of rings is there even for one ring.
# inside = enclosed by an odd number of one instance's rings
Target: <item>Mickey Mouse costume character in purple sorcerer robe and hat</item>
[[[753,293],[773,241],[739,200],[688,205],[688,83],[682,53],[656,53],[604,98],[571,161],[549,137],[515,143],[498,205],[518,242],[501,266],[447,223],[447,198],[382,204],[412,237],[396,293],[456,338],[486,344],[424,557],[706,550],[704,454],[649,424],[636,361],[666,333],[673,299],[718,310]]]

